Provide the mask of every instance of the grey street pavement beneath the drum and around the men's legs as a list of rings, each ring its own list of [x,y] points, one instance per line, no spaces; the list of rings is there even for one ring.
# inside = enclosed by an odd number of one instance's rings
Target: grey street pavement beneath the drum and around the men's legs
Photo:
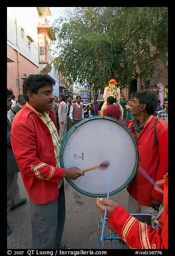
[[[31,215],[30,203],[20,173],[18,183],[21,198],[26,197],[27,203],[10,212],[9,226],[12,230],[7,237],[8,249],[32,249],[31,246]],[[101,212],[96,207],[96,198],[83,195],[64,181],[66,216],[62,244],[70,249],[99,249],[98,221]],[[116,201],[127,209],[128,193],[126,188],[110,196],[110,200]],[[101,231],[100,231],[101,232]],[[109,234],[108,225],[105,224],[104,235]],[[121,243],[117,240],[116,247],[121,249]],[[124,245],[124,248],[127,248]],[[101,249],[114,249],[114,240],[105,240],[101,243]]]

